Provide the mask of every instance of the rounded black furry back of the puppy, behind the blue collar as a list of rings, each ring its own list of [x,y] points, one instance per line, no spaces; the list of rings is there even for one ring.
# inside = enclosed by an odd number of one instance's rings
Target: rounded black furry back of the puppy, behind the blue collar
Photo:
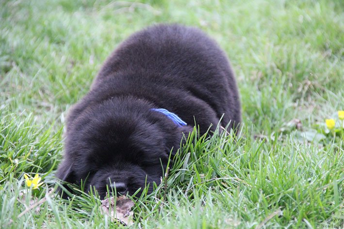
[[[196,120],[202,132],[222,116],[223,126],[241,121],[236,81],[225,53],[192,27],[157,25],[134,33],[104,63],[90,93],[91,100],[143,98],[189,124]]]

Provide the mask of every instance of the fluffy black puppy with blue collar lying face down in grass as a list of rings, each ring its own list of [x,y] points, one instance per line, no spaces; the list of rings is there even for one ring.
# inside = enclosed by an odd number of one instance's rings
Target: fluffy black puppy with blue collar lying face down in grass
[[[234,75],[219,46],[180,25],[139,31],[115,50],[72,107],[57,177],[68,183],[87,177],[86,188],[95,186],[101,197],[106,185],[132,195],[150,183],[151,192],[183,133],[195,121],[205,133],[221,117],[220,124],[230,122],[233,129],[241,121]]]

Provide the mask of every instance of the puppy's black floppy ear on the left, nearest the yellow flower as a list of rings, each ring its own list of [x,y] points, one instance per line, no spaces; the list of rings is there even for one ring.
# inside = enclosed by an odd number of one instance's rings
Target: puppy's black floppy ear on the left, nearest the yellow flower
[[[67,186],[66,183],[75,183],[76,181],[76,177],[73,171],[73,165],[72,163],[68,163],[66,160],[60,165],[60,167],[57,170],[56,173],[56,177],[60,180],[62,180],[63,183],[63,187],[66,188],[66,190],[68,192],[72,192],[72,190]],[[66,182],[66,183],[65,183]],[[62,193],[63,189],[61,187],[59,187],[57,189],[58,193]],[[62,194],[62,198],[66,199],[68,197],[68,195],[66,194],[66,192],[64,192]]]

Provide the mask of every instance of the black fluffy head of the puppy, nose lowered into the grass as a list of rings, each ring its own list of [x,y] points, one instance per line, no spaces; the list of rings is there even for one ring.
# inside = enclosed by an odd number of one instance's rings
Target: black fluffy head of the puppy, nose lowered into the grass
[[[69,122],[65,159],[57,177],[68,183],[85,181],[100,197],[109,190],[138,195],[159,184],[180,140],[190,127],[178,127],[149,105],[130,98],[111,99],[88,108]],[[73,111],[72,111],[73,112]],[[190,129],[188,129],[190,128]]]

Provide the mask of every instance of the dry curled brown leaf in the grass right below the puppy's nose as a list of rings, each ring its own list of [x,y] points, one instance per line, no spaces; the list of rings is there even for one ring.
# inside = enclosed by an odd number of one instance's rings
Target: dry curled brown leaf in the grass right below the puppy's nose
[[[115,222],[120,222],[124,225],[133,224],[131,208],[134,206],[134,202],[130,198],[124,196],[117,197],[116,201],[114,197],[101,200],[100,209],[102,212]]]

